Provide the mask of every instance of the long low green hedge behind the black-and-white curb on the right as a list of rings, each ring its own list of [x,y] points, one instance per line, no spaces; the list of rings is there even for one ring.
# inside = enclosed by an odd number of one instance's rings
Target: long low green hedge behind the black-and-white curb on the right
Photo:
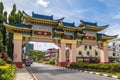
[[[97,64],[97,63],[84,63],[77,62],[70,65],[71,68],[78,69],[91,69],[91,70],[102,70],[109,72],[120,72],[120,64],[119,63],[111,63],[111,64]]]

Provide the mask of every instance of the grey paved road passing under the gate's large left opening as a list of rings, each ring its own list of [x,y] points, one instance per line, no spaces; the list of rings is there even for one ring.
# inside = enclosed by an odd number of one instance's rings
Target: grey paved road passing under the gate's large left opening
[[[39,80],[116,80],[115,78],[85,72],[63,70],[59,67],[39,63],[33,63],[31,67],[27,68],[31,70]]]

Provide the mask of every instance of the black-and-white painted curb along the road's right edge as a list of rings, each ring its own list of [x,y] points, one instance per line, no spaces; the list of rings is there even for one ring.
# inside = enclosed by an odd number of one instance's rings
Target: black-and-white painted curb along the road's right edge
[[[84,71],[84,70],[78,70],[78,69],[72,69],[72,68],[65,68],[65,67],[62,67],[62,69],[67,69],[67,70],[72,70],[72,71],[78,71],[78,72],[85,72],[85,73],[90,73],[90,74],[96,74],[96,75],[99,75],[99,76],[105,76],[105,77],[111,77],[111,78],[115,78],[115,79],[120,79],[120,76],[111,76],[111,75],[102,74],[102,73],[99,73],[99,72]]]

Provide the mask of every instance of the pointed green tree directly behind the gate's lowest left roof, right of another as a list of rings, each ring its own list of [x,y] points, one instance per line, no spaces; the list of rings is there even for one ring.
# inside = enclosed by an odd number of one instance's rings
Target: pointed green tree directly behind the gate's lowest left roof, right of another
[[[16,12],[16,4],[13,5],[13,9],[10,12],[10,15],[8,17],[8,21],[9,24],[20,24],[22,23],[22,17],[23,14],[22,12],[19,10],[18,12]],[[13,33],[8,33],[8,42],[7,42],[7,49],[8,49],[8,53],[9,56],[12,58],[13,56]]]

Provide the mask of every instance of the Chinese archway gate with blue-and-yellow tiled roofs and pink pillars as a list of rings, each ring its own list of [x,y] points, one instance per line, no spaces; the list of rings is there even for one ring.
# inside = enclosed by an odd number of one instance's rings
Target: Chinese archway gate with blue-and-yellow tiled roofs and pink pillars
[[[52,16],[32,13],[32,16],[24,14],[24,24],[9,25],[4,23],[7,32],[14,35],[13,62],[17,67],[22,67],[22,46],[29,41],[51,42],[59,47],[58,66],[65,66],[76,62],[76,49],[80,45],[93,45],[101,49],[100,62],[108,63],[107,40],[116,36],[108,36],[97,33],[108,27],[98,26],[97,23],[80,21],[76,27],[74,23],[64,22],[63,19],[54,20]],[[67,51],[66,61],[66,47]],[[68,53],[69,52],[69,53]],[[69,55],[68,55],[69,54]]]

